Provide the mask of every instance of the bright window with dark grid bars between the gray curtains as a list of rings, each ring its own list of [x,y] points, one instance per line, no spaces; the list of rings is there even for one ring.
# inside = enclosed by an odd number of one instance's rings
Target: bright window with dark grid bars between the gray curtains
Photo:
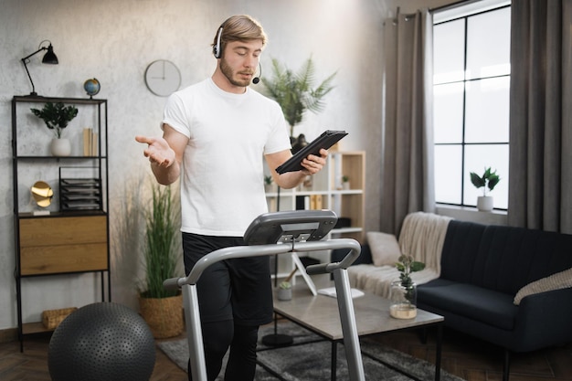
[[[477,2],[471,6],[482,5]],[[501,176],[491,196],[508,208],[510,4],[436,12],[433,29],[435,199],[476,206],[471,172]],[[487,189],[488,194],[488,189]]]

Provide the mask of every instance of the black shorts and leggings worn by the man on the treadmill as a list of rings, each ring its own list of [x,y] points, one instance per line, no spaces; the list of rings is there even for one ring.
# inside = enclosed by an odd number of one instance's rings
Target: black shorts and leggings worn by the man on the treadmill
[[[239,245],[244,245],[241,237],[183,233],[185,272],[208,253]],[[252,380],[259,326],[272,321],[268,257],[227,259],[209,266],[197,282],[197,293],[208,381],[217,378],[228,348],[225,381]]]

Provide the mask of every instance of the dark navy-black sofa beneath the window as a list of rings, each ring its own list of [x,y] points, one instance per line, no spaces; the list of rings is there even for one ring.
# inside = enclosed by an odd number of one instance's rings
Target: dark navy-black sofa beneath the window
[[[371,261],[367,245],[363,251],[355,264]],[[332,255],[335,261],[342,253]],[[503,380],[511,352],[572,341],[572,288],[514,300],[531,282],[572,268],[572,235],[451,220],[440,264],[439,279],[418,286],[418,307],[502,347]]]

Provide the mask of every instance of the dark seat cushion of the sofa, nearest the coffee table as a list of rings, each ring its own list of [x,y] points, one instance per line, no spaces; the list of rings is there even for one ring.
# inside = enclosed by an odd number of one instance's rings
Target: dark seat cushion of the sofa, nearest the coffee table
[[[518,312],[513,295],[443,279],[419,286],[418,301],[506,331],[514,329]]]

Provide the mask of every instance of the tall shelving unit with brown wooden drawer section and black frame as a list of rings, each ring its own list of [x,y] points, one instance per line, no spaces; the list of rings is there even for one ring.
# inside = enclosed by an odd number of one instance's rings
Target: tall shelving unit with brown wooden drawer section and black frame
[[[78,117],[64,131],[72,145],[69,156],[49,153],[48,129],[30,111],[31,108],[41,109],[48,102],[72,104],[79,109]],[[69,279],[72,274],[93,273],[96,282],[92,286],[94,291],[89,294],[94,297],[85,304],[111,301],[107,150],[106,100],[13,98],[15,279],[21,350],[26,334],[49,331],[41,322],[29,322],[24,318],[26,313],[34,315],[41,310],[25,311],[24,306],[30,310],[34,303],[23,299],[30,295],[40,300],[65,298],[65,295],[48,295],[41,287],[34,287],[37,280],[52,277],[51,280],[62,281],[62,277]],[[36,206],[30,193],[38,180],[50,185],[54,193],[52,203],[44,208]],[[82,196],[87,193],[89,196]],[[58,278],[53,278],[55,275]],[[65,287],[62,289],[63,292],[74,292]]]

